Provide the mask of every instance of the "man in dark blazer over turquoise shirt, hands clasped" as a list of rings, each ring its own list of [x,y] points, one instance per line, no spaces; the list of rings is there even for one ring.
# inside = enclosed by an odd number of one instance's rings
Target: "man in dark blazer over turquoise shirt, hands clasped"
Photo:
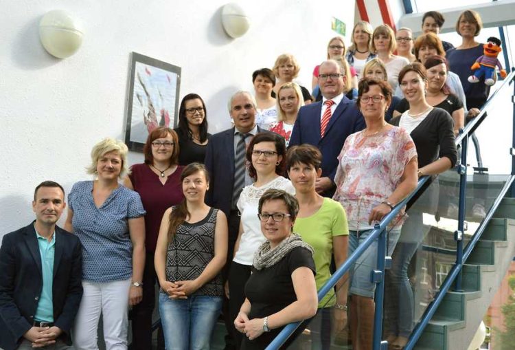
[[[82,298],[79,239],[56,226],[65,191],[52,181],[34,191],[36,220],[5,234],[0,247],[0,348],[73,349],[70,329]]]

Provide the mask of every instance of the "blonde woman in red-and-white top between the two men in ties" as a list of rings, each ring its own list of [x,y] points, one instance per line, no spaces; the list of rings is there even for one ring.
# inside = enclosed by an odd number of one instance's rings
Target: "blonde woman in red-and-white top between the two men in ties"
[[[286,142],[286,147],[290,142],[293,124],[297,120],[297,113],[300,107],[304,106],[304,98],[299,85],[286,83],[279,89],[277,97],[277,122],[270,124],[268,130],[281,135]]]

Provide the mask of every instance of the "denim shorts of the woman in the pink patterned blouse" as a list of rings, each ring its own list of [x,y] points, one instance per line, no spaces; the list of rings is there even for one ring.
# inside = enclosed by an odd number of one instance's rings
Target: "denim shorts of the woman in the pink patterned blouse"
[[[350,256],[354,250],[358,248],[358,245],[363,243],[371,230],[365,231],[349,231],[349,252]],[[387,256],[390,256],[395,248],[397,241],[400,236],[400,230],[389,230],[387,232]],[[359,296],[365,296],[367,298],[374,298],[376,292],[376,283],[371,281],[371,270],[375,270],[377,267],[377,249],[378,240],[376,239],[369,245],[369,248],[361,254],[356,260],[354,266],[350,269],[350,294]]]

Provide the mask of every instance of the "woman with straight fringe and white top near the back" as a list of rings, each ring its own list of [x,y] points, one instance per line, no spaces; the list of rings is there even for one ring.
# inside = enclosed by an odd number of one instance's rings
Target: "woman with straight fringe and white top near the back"
[[[393,52],[397,48],[397,41],[393,30],[389,25],[379,25],[372,34],[370,51],[385,64],[388,73],[388,83],[392,91],[396,91],[399,83],[399,72],[404,66],[409,65],[407,58],[396,56]]]

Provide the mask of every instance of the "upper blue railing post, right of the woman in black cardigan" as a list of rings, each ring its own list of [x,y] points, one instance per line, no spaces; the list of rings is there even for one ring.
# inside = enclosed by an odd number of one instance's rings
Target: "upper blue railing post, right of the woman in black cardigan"
[[[461,140],[461,164],[458,166],[459,173],[459,208],[458,208],[458,230],[455,232],[456,241],[456,265],[463,264],[463,232],[466,210],[467,190],[467,150],[468,138]],[[456,278],[455,292],[461,292],[461,269]]]

